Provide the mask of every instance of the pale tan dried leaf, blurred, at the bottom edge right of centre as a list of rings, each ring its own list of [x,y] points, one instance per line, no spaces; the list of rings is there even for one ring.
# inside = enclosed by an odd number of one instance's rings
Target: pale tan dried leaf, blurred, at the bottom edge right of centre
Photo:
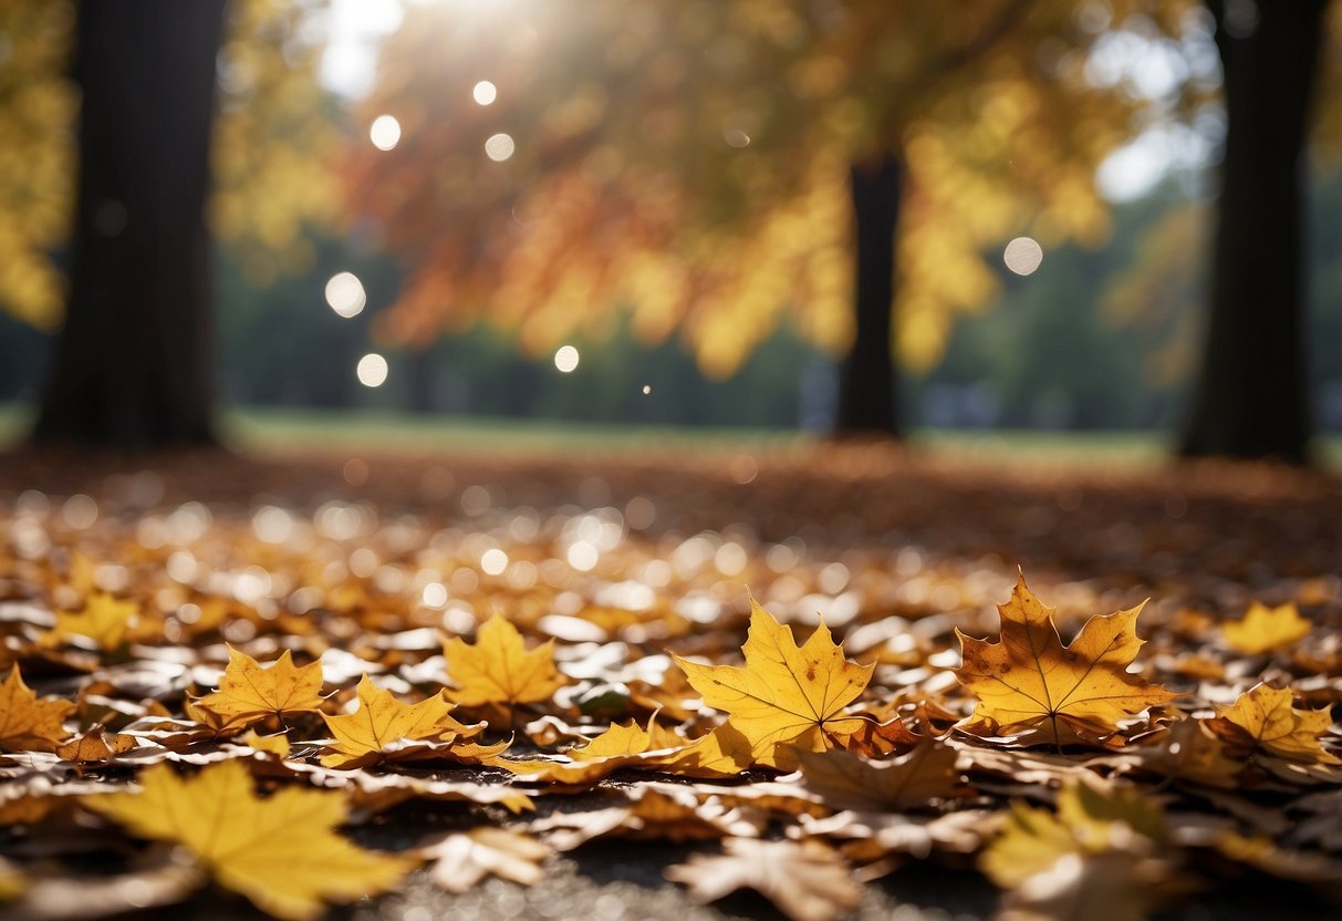
[[[699,902],[754,889],[793,921],[828,921],[858,908],[862,890],[848,866],[815,838],[803,842],[727,838],[722,854],[692,854],[666,877]]]

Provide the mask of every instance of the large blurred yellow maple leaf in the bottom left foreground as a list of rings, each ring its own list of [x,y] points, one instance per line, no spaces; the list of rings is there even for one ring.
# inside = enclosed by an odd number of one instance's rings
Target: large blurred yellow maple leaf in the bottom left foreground
[[[184,844],[221,886],[279,918],[313,918],[323,900],[382,891],[413,866],[337,835],[346,812],[340,793],[283,788],[260,799],[242,761],[212,764],[185,780],[158,764],[140,783],[138,793],[83,803],[138,836]]]

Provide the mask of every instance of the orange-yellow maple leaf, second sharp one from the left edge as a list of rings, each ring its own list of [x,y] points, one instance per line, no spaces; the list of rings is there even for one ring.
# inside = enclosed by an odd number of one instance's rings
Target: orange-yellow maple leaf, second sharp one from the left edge
[[[228,667],[219,690],[191,701],[188,714],[219,728],[242,728],[268,716],[310,713],[322,705],[322,663],[294,665],[290,650],[268,666],[228,647]]]

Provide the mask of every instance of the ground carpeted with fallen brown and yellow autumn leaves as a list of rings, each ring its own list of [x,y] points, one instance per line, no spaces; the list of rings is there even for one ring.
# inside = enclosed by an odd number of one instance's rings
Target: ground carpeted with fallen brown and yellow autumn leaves
[[[15,455],[0,534],[16,917],[1342,898],[1325,475]]]

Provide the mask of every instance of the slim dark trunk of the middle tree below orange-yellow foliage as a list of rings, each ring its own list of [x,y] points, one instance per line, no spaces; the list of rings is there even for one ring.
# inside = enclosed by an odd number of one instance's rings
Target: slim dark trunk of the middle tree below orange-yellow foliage
[[[891,322],[895,294],[895,230],[903,164],[886,154],[852,169],[858,263],[856,332],[839,369],[836,438],[899,435]]]

